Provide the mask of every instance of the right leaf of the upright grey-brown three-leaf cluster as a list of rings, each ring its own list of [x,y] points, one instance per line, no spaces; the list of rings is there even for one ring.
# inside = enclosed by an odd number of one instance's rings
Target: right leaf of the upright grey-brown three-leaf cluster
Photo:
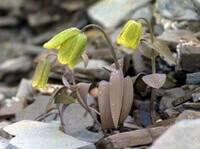
[[[124,120],[130,113],[133,104],[133,94],[134,94],[133,82],[132,79],[128,76],[124,79],[124,96],[123,96],[123,104],[121,109],[119,125],[124,122]]]

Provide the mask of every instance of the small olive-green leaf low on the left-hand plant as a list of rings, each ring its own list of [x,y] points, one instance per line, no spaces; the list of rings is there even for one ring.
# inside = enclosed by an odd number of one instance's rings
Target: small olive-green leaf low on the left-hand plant
[[[72,96],[63,94],[55,97],[55,103],[69,105],[71,103],[77,103],[77,101]]]

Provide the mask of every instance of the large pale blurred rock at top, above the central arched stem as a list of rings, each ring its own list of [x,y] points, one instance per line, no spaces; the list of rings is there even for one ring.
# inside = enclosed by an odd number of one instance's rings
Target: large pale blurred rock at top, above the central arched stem
[[[131,11],[144,6],[151,0],[103,0],[88,9],[89,17],[106,29],[114,29],[121,21],[131,16]]]

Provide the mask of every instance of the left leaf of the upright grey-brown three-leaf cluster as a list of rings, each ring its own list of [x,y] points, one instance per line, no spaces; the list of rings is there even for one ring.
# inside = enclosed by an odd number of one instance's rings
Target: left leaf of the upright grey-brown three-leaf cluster
[[[98,105],[99,105],[102,129],[114,128],[110,110],[109,86],[110,83],[107,81],[101,81],[99,84]]]

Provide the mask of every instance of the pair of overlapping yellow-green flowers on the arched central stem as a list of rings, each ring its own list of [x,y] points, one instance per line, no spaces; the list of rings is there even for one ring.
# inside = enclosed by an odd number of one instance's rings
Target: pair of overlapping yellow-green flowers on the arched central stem
[[[77,28],[70,28],[54,36],[44,44],[46,49],[57,49],[58,60],[73,69],[87,44],[87,37]]]

